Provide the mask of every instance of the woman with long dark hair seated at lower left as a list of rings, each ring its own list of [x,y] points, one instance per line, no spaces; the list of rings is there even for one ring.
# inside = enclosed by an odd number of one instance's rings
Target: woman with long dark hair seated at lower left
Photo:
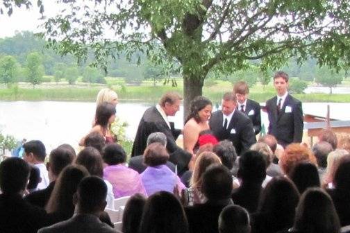
[[[80,165],[69,165],[63,169],[45,207],[49,214],[49,223],[65,221],[73,216],[73,195],[79,182],[88,175],[85,167]]]

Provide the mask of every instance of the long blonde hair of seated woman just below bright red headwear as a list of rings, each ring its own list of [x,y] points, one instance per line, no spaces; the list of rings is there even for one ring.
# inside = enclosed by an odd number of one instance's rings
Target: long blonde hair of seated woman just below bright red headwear
[[[201,187],[202,175],[211,164],[222,164],[220,158],[215,155],[215,153],[210,151],[205,151],[197,157],[194,163],[194,170],[192,178],[190,180],[190,185],[192,188]]]

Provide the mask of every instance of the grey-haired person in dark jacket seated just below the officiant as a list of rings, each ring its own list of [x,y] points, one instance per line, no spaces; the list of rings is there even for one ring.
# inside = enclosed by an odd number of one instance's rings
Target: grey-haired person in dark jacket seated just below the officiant
[[[167,147],[167,136],[165,136],[165,134],[163,132],[152,132],[149,137],[147,137],[147,146],[149,146],[149,144],[152,144],[153,142],[158,142],[160,144],[162,144],[163,146]],[[138,156],[133,156],[130,158],[129,162],[128,162],[128,168],[133,169],[135,171],[137,171],[138,173],[143,173],[144,170],[147,169],[146,164],[143,163],[144,160],[144,155],[138,155]],[[169,155],[170,157],[170,155]],[[175,169],[175,164],[173,164],[172,162],[167,161],[167,163],[165,164],[167,165],[167,167],[172,170],[172,171],[176,171]]]

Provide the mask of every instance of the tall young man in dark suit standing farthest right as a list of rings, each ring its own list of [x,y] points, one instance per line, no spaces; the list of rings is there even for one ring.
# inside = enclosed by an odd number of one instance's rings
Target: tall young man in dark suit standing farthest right
[[[292,142],[301,142],[303,137],[303,109],[301,102],[288,94],[288,80],[288,74],[278,71],[274,75],[277,96],[266,102],[268,133],[274,135],[283,147]]]

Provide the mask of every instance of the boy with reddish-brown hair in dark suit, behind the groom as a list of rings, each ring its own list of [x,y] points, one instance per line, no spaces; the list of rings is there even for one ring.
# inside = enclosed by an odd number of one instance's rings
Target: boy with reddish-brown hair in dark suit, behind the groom
[[[237,109],[247,114],[253,123],[255,135],[258,135],[261,131],[260,104],[248,98],[249,87],[244,81],[235,83],[233,93],[237,98]]]

